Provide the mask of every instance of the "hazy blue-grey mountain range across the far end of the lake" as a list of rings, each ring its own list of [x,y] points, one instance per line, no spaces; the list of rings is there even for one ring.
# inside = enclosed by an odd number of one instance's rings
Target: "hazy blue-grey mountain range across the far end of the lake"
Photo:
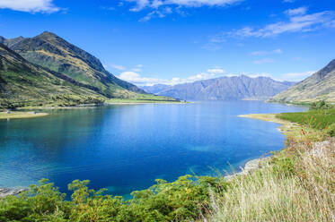
[[[295,82],[274,81],[269,77],[251,78],[245,75],[195,81],[174,86],[143,87],[146,92],[185,100],[265,100]]]

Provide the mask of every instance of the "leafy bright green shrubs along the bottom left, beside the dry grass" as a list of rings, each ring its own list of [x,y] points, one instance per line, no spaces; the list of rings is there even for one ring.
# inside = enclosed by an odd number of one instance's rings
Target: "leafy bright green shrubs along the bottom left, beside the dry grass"
[[[88,181],[68,185],[71,200],[41,180],[19,196],[0,199],[0,221],[187,221],[199,219],[209,206],[209,192],[222,192],[225,182],[214,177],[181,176],[173,183],[157,180],[151,188],[133,192],[133,199],[103,195],[88,189]]]

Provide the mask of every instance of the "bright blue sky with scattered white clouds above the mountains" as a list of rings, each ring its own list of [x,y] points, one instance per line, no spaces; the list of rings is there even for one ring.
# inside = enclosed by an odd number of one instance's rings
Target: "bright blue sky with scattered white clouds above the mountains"
[[[137,85],[301,81],[335,58],[335,0],[0,0],[0,35],[48,30]]]

